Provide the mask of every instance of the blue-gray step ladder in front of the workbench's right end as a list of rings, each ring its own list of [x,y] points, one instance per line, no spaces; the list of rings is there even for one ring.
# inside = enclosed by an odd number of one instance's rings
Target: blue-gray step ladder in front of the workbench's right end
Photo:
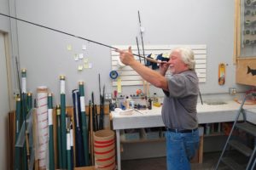
[[[230,135],[226,143],[224,144],[224,149],[222,150],[221,155],[218,158],[218,163],[215,167],[215,170],[218,170],[220,162],[224,163],[232,170],[256,170],[256,125],[247,122],[246,111],[242,108],[248,97],[256,97],[256,93],[247,94],[242,100],[241,106],[237,111],[235,122],[233,124],[233,127],[231,128]],[[242,116],[242,122],[238,122],[240,116]],[[247,135],[253,136],[254,146],[248,146],[248,144],[244,144],[244,142],[241,142],[239,138],[234,138],[235,129],[239,129],[240,131],[247,133]],[[228,146],[230,150],[227,150]],[[242,155],[247,157],[247,163],[241,165],[236,160],[234,160],[231,154],[227,154],[227,152],[231,150],[237,150]]]

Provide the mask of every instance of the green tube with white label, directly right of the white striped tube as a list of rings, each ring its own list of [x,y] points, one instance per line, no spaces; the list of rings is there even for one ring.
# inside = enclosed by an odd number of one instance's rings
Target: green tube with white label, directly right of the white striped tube
[[[47,97],[48,104],[48,125],[49,125],[49,170],[55,170],[55,152],[54,152],[54,136],[53,136],[53,106],[52,94],[49,93]]]

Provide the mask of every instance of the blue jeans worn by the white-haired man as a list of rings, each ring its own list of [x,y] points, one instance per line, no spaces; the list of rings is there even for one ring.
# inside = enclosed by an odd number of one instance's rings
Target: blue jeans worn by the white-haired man
[[[168,170],[189,170],[190,160],[199,147],[199,132],[174,133],[166,132],[166,161]]]

